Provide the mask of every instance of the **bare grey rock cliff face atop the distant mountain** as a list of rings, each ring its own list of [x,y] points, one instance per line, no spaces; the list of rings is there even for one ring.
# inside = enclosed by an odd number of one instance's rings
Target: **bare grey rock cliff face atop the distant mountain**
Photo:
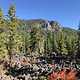
[[[44,28],[45,30],[51,30],[54,31],[55,29],[58,29],[59,31],[62,31],[62,26],[56,22],[56,21],[43,21],[37,24],[38,27]]]

